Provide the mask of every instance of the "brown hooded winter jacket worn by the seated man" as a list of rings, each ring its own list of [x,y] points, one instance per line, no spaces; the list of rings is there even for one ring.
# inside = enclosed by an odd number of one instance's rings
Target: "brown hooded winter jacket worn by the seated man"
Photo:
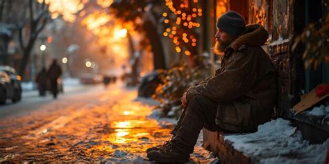
[[[187,91],[187,100],[200,94],[217,102],[216,124],[221,129],[255,131],[271,119],[277,80],[271,59],[260,47],[267,39],[263,26],[246,26],[246,31],[226,48],[214,76]]]

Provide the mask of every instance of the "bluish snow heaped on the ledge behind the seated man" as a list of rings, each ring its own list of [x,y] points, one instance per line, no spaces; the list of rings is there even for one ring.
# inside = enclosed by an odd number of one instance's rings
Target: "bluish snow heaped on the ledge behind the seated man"
[[[329,139],[310,145],[289,120],[282,118],[260,125],[253,134],[225,136],[224,139],[247,156],[261,158],[260,163],[324,163],[329,147]]]

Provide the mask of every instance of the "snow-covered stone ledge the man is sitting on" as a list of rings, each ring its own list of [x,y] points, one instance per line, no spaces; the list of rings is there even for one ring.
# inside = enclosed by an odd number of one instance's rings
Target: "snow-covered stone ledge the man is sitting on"
[[[223,134],[203,129],[203,143],[219,156],[221,163],[243,164],[323,163],[329,147],[329,139],[310,145],[292,122],[282,118],[260,125],[251,134]]]

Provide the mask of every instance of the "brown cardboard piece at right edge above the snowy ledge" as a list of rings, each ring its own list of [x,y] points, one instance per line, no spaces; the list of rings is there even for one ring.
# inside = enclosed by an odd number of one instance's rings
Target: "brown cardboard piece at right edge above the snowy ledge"
[[[328,84],[320,84],[321,85],[328,85]],[[315,87],[310,93],[307,93],[305,95],[302,95],[302,100],[301,102],[298,102],[292,109],[296,111],[296,113],[299,113],[301,111],[305,111],[306,109],[309,109],[312,107],[314,104],[317,104],[317,102],[327,98],[329,96],[329,93],[326,95],[321,96],[320,98],[317,97],[317,94],[315,93],[315,90],[319,87]]]

